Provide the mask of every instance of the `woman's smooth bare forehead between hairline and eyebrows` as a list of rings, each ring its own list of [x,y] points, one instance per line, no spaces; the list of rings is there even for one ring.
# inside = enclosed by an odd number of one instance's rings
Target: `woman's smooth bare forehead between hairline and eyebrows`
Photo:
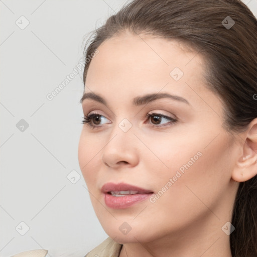
[[[202,87],[205,82],[202,57],[176,40],[125,32],[104,41],[98,51],[88,68],[85,92],[119,91],[132,98],[165,87],[184,94],[188,84]]]

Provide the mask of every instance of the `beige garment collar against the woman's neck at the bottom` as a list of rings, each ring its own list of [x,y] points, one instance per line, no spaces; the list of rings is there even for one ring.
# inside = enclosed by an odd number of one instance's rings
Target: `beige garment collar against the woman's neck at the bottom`
[[[122,244],[115,242],[110,237],[107,237],[103,242],[98,246],[88,252],[85,257],[118,257]]]

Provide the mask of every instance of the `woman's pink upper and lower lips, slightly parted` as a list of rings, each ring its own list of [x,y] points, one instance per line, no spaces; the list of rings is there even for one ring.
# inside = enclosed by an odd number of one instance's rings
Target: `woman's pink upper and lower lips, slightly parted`
[[[113,196],[109,194],[109,191],[138,191],[138,194],[133,195],[125,195],[125,196]],[[106,183],[102,186],[101,192],[104,194],[104,202],[105,204],[113,209],[124,209],[128,208],[135,203],[141,202],[149,198],[153,191],[147,190],[144,188],[140,188],[137,186],[125,184],[125,183]]]

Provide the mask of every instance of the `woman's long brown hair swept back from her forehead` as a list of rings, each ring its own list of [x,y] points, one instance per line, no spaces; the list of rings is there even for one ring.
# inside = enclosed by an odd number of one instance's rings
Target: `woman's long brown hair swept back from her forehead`
[[[245,131],[257,117],[257,21],[239,0],[135,0],[95,31],[84,57],[125,30],[176,39],[199,52],[206,62],[207,86],[222,99],[228,132]],[[239,184],[231,222],[232,256],[256,257],[256,176]]]

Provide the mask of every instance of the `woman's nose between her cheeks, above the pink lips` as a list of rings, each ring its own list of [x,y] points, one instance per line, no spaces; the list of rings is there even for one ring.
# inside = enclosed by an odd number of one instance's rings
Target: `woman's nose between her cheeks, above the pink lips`
[[[115,132],[114,132],[115,131]],[[139,140],[132,129],[123,132],[115,129],[102,151],[102,162],[107,167],[134,167],[139,162]]]

